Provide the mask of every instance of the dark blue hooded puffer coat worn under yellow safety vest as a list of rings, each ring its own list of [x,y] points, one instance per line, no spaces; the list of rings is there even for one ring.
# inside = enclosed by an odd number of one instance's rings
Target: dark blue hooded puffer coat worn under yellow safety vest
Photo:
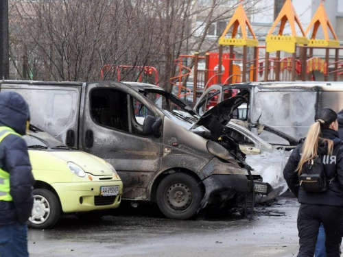
[[[25,135],[29,107],[14,92],[0,93],[0,126],[11,127]],[[0,143],[0,167],[10,173],[10,195],[13,201],[0,201],[0,226],[25,223],[32,212],[34,177],[25,140],[10,134]]]

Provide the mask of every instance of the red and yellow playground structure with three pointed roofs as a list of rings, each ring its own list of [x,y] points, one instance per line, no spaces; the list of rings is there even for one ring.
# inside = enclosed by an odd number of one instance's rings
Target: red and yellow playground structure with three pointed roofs
[[[177,88],[176,95],[180,98],[191,95],[193,103],[196,103],[202,90],[216,83],[343,80],[343,60],[339,58],[343,47],[340,47],[340,42],[333,31],[322,1],[309,26],[304,30],[292,1],[286,0],[265,37],[265,46],[258,46],[258,40],[240,2],[235,14],[220,36],[218,53],[206,53],[205,56],[199,56],[198,53],[180,55],[175,61],[178,75],[171,77],[169,81]],[[292,32],[290,35],[284,35],[287,22]],[[278,25],[279,32],[273,34]],[[300,34],[296,34],[296,25],[300,29]],[[320,26],[324,33],[324,39],[316,38]],[[241,35],[238,38],[239,27]],[[248,38],[246,28],[248,28],[251,38]],[[232,32],[227,37],[229,31]],[[312,31],[311,37],[307,38],[306,35],[310,31]],[[330,39],[329,32],[333,39]],[[228,53],[224,53],[224,47],[229,47]],[[237,54],[234,47],[243,47],[240,58],[235,57]],[[253,50],[252,58],[248,58],[248,48]],[[318,57],[318,53],[324,58]],[[193,61],[193,69],[186,65],[190,59]],[[200,62],[204,63],[204,69],[198,69]],[[189,82],[187,83],[189,77],[193,77],[192,86],[189,86]]]

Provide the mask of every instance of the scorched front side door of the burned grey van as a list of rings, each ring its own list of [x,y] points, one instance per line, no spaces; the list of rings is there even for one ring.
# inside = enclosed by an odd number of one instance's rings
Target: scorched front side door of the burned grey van
[[[150,182],[161,169],[162,137],[145,134],[143,124],[158,114],[132,88],[110,85],[87,84],[82,148],[115,167],[123,198],[148,199]]]

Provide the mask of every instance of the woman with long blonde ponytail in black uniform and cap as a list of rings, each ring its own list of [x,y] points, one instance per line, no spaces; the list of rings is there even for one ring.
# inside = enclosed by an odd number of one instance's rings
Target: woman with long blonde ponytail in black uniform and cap
[[[322,156],[324,172],[332,180],[327,191],[309,193],[299,186],[303,164]],[[340,256],[343,232],[343,143],[338,137],[337,114],[324,108],[316,113],[307,137],[289,157],[283,176],[289,189],[298,197],[299,254],[314,256],[320,223],[325,230],[326,256]]]

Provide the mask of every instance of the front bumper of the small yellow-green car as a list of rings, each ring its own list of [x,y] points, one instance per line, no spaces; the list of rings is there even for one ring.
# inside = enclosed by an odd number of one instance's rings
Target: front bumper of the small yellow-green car
[[[123,193],[121,181],[54,183],[63,212],[87,212],[117,208]],[[100,195],[100,186],[119,186],[118,195]]]

